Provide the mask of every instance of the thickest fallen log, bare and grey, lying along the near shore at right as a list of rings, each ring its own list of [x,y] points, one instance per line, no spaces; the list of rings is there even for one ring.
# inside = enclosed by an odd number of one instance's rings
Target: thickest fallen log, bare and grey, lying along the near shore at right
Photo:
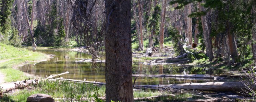
[[[178,89],[205,90],[205,91],[241,91],[245,88],[242,82],[206,82],[206,83],[185,83],[170,85],[134,85],[135,87],[168,87]]]

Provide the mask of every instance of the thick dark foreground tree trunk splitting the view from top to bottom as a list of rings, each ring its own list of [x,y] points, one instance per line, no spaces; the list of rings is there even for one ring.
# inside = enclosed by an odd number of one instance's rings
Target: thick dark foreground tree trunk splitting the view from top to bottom
[[[105,1],[106,102],[133,102],[131,1]]]

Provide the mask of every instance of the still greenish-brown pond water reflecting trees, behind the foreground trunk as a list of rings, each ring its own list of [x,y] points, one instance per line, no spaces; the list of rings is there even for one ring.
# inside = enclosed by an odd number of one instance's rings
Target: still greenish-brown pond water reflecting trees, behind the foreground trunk
[[[31,48],[27,48],[31,50]],[[66,79],[84,80],[105,82],[105,63],[98,63],[97,67],[92,65],[91,62],[75,62],[75,58],[91,58],[88,53],[71,51],[71,50],[58,50],[38,48],[37,52],[46,54],[54,54],[54,58],[45,62],[31,63],[20,67],[20,70],[30,74],[40,75],[47,77],[51,74],[59,74],[69,71],[69,74],[61,75]],[[64,58],[68,56],[70,58]],[[104,58],[104,57],[103,57]],[[191,68],[185,65],[143,65],[139,62],[133,61],[132,72],[133,74],[219,74],[219,70],[211,70],[204,68]],[[121,73],[120,73],[121,74]],[[133,77],[133,80],[135,77]],[[156,85],[156,84],[173,84],[173,83],[199,83],[210,82],[214,80],[206,79],[183,79],[183,78],[152,78],[152,77],[138,77],[135,85]]]

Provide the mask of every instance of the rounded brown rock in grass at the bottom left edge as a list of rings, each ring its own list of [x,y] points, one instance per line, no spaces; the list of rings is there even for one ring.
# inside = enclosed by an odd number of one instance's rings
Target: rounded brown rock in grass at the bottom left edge
[[[27,102],[54,102],[54,99],[47,94],[34,94],[27,98]]]

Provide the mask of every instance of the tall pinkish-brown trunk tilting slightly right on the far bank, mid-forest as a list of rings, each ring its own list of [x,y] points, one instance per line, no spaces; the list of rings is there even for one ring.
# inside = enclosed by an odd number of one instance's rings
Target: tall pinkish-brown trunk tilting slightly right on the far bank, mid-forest
[[[160,24],[160,49],[163,49],[163,33],[164,33],[164,19],[165,19],[165,12],[166,12],[166,0],[162,1],[162,13],[161,13],[161,24]]]

